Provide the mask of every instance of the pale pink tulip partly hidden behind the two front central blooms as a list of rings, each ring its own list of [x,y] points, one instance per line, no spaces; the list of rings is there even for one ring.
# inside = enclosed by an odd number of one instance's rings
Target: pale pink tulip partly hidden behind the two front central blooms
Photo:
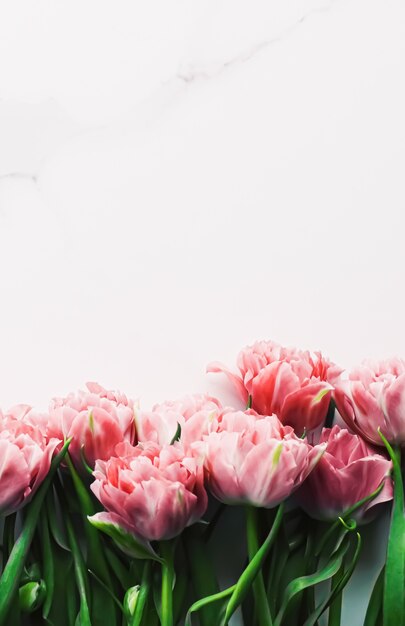
[[[156,404],[152,411],[137,411],[135,421],[138,441],[152,441],[161,446],[169,444],[180,426],[180,441],[188,447],[200,440],[203,433],[209,432],[217,423],[221,410],[221,404],[215,398],[195,394]]]

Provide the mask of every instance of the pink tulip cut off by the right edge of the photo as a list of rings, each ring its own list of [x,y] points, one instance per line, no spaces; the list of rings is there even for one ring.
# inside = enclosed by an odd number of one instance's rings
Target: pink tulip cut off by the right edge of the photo
[[[370,443],[383,445],[378,429],[393,444],[405,444],[405,361],[365,361],[335,391],[342,418]]]

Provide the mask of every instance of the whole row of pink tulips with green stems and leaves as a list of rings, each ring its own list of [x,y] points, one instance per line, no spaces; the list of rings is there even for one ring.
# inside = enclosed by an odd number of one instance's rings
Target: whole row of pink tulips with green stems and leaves
[[[405,626],[405,361],[262,341],[208,371],[239,406],[88,383],[0,413],[0,626],[338,626],[389,506],[364,626]]]

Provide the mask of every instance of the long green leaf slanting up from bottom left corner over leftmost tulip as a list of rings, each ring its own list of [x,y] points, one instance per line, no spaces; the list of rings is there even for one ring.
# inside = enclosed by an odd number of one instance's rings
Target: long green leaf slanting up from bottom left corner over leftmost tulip
[[[35,528],[41,513],[42,503],[52,482],[52,478],[66,455],[70,441],[71,440],[68,439],[59,454],[54,457],[45,480],[35,494],[32,502],[26,507],[27,515],[22,531],[14,544],[10,557],[0,578],[0,624],[6,623],[7,613],[18,589],[21,573],[24,568],[24,562],[27,558],[31,542],[34,537]]]

